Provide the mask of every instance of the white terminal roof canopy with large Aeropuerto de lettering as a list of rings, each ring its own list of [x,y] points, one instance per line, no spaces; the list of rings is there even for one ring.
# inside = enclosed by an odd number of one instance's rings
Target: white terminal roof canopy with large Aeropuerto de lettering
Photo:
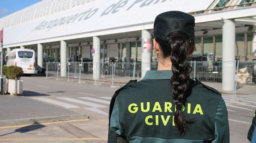
[[[154,18],[162,12],[179,10],[190,13],[205,10],[213,2],[213,0],[91,0],[90,3],[79,3],[71,8],[70,4],[73,0],[65,0],[69,8],[61,10],[54,7],[52,14],[44,12],[42,14],[46,16],[32,17],[32,13],[38,13],[36,7],[40,10],[51,8],[50,5],[54,3],[49,1],[44,0],[2,18],[3,20],[8,17],[18,18],[19,12],[31,10],[27,17],[23,17],[23,21],[26,19],[27,22],[20,22],[21,24],[4,29],[4,45],[26,42],[35,44],[42,41],[52,42],[60,39],[152,29]],[[28,20],[29,17],[33,20]]]

